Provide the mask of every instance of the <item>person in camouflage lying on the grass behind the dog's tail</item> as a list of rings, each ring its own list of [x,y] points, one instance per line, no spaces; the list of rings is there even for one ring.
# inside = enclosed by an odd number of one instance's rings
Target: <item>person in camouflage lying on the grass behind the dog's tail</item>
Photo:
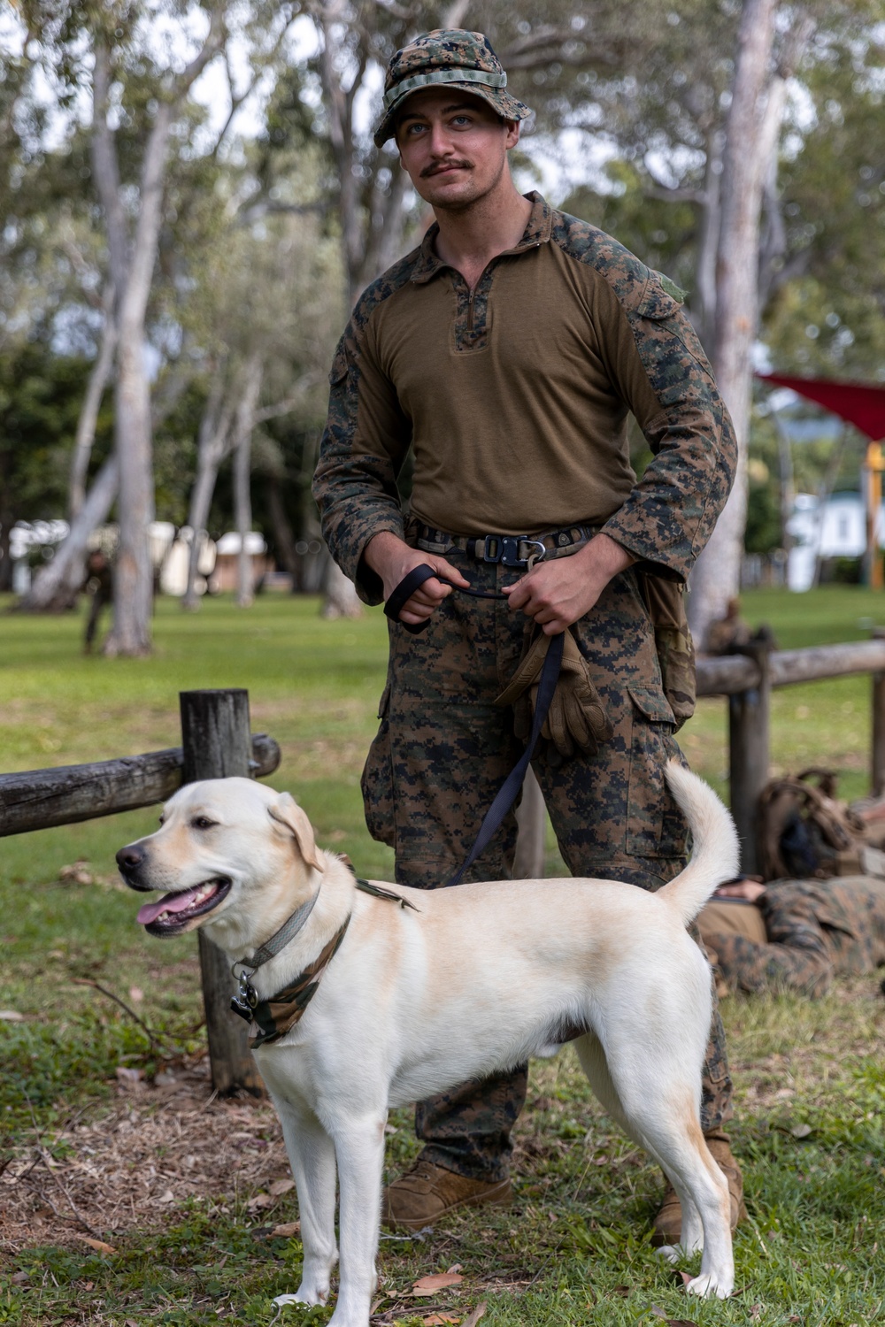
[[[727,990],[825,995],[835,975],[885,965],[885,880],[742,880],[716,890],[698,929]]]

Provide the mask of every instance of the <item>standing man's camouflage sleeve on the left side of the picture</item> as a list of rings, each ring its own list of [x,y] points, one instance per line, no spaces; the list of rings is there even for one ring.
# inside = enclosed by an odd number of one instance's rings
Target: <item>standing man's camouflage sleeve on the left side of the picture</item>
[[[368,328],[377,303],[377,292],[370,287],[338,342],[313,476],[322,535],[366,604],[379,604],[382,594],[381,580],[365,565],[362,552],[381,531],[402,537],[397,475],[411,443],[411,425],[377,362]]]

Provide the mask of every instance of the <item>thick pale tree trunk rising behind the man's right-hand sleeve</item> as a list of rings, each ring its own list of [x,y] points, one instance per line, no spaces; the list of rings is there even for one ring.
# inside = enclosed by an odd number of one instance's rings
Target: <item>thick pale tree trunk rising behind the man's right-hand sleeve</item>
[[[759,218],[763,183],[768,174],[768,161],[762,159],[764,97],[766,92],[771,93],[774,37],[775,0],[744,0],[726,121],[711,356],[738,437],[738,474],[731,496],[691,576],[690,625],[701,645],[710,624],[724,617],[728,600],[740,588],[747,523],[751,350],[759,318]]]

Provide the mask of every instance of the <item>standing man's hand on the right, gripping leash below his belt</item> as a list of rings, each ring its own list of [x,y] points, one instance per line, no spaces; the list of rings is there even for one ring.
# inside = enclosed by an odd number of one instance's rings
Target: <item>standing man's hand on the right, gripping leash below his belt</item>
[[[533,617],[545,636],[559,636],[589,613],[612,577],[634,561],[633,553],[600,533],[580,552],[539,563],[515,585],[503,589],[511,608]]]

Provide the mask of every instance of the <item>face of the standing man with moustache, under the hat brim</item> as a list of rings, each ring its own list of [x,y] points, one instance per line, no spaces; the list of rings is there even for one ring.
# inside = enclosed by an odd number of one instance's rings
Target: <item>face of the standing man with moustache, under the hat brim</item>
[[[507,169],[519,126],[459,88],[425,88],[397,123],[399,159],[431,207],[459,211],[491,192]]]

